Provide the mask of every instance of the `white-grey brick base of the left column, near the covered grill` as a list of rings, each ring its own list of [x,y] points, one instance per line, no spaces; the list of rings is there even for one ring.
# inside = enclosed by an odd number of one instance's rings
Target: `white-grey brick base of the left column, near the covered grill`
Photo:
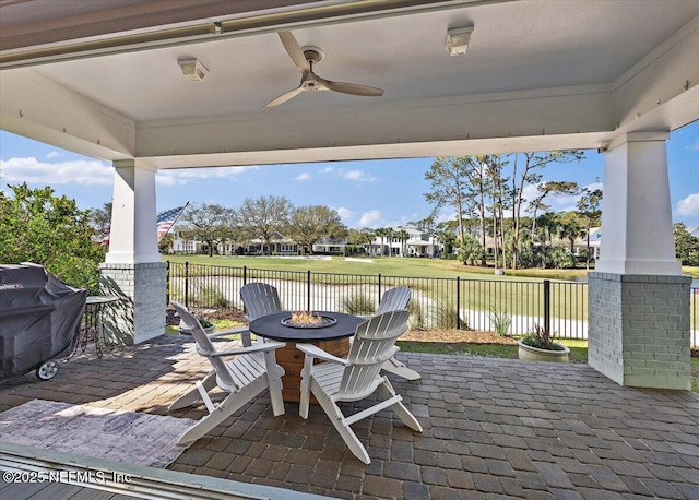
[[[165,333],[167,263],[99,264],[99,291],[121,300],[103,312],[105,340],[140,344]]]

